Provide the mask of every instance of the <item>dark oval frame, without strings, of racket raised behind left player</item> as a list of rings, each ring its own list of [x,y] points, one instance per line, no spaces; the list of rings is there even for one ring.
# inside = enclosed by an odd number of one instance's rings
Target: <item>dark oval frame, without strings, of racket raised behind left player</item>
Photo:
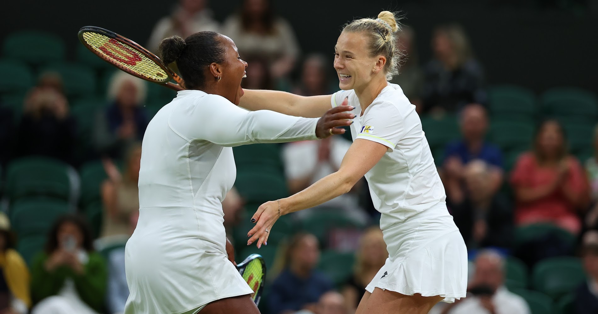
[[[96,50],[96,48],[91,47],[91,45],[87,43],[85,38],[83,38],[83,35],[84,35],[84,33],[88,33],[88,32],[98,33],[98,34],[106,36],[108,38],[115,39],[118,42],[120,42],[121,44],[126,45],[127,48],[134,50],[139,54],[142,54],[143,56],[147,57],[151,61],[154,61],[154,63],[157,64],[158,67],[160,67],[162,70],[164,70],[164,72],[166,72],[167,79],[164,79],[163,81],[156,81],[155,79],[148,78],[147,76],[141,75],[141,74],[129,69],[128,67],[123,66],[122,64],[113,62],[111,57],[108,57],[105,54],[100,53],[99,51]],[[180,76],[178,76],[175,72],[173,72],[173,70],[171,70],[169,67],[165,66],[162,63],[162,61],[160,60],[160,58],[158,58],[158,56],[151,53],[151,51],[147,50],[142,45],[139,45],[136,42],[130,40],[129,38],[126,38],[124,36],[118,35],[115,32],[111,32],[110,30],[103,29],[102,27],[97,27],[97,26],[81,27],[81,29],[77,33],[77,36],[78,36],[81,44],[83,44],[87,49],[89,49],[96,56],[100,57],[100,59],[112,64],[112,66],[115,66],[118,69],[123,70],[124,72],[129,73],[130,75],[136,76],[141,79],[145,79],[145,81],[149,81],[149,82],[152,82],[155,84],[160,84],[160,85],[166,86],[175,91],[182,91],[185,89],[185,88],[183,88],[183,80]],[[173,84],[172,82],[170,82],[172,79],[177,84]]]

